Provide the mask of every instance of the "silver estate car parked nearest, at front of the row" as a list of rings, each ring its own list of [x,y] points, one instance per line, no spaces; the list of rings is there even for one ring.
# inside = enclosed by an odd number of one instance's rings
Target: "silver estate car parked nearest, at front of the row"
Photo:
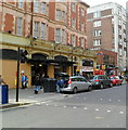
[[[77,93],[78,91],[84,91],[84,90],[91,91],[92,86],[82,76],[68,77],[68,79],[65,80],[65,86],[61,88],[61,92]]]

